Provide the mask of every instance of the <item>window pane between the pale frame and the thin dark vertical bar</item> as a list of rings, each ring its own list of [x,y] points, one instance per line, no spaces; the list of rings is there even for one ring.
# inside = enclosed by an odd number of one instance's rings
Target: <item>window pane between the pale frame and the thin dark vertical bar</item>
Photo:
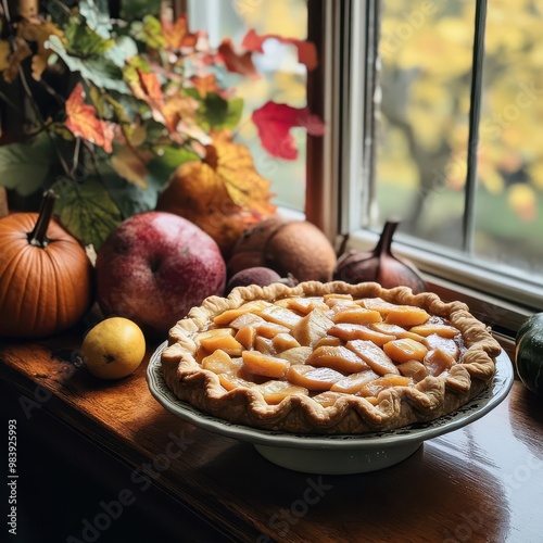
[[[463,247],[475,2],[381,1],[376,226]]]

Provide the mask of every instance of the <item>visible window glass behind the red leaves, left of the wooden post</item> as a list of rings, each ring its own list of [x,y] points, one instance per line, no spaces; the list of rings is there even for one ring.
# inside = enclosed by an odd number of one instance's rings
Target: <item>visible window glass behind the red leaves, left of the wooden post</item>
[[[211,45],[217,47],[229,38],[240,47],[249,29],[258,35],[274,34],[281,37],[307,37],[306,0],[190,0],[188,2],[191,29],[206,30]],[[306,105],[306,70],[298,62],[296,49],[275,39],[264,41],[264,53],[254,53],[253,62],[261,76],[245,78],[224,74],[226,86],[235,88],[244,100],[244,122],[237,140],[249,147],[258,173],[273,181],[274,203],[303,211],[305,207],[305,150],[306,137],[302,128],[293,128],[299,155],[295,161],[269,156],[261,147],[255,126],[248,122],[252,111],[268,100],[293,108]]]

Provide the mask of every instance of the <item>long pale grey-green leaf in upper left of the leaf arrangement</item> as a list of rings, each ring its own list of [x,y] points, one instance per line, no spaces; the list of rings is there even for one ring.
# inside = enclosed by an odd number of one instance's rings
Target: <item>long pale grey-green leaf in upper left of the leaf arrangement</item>
[[[93,83],[97,87],[115,90],[123,94],[130,93],[128,85],[123,80],[121,68],[113,62],[108,61],[103,56],[97,56],[96,59],[79,59],[77,56],[72,56],[64,49],[58,36],[50,36],[48,42],[50,49],[66,63],[72,72],[79,72],[84,78]]]

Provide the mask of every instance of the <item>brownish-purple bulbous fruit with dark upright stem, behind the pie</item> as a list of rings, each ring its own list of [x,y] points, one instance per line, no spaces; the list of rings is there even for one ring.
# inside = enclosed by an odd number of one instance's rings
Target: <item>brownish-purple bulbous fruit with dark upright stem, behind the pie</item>
[[[397,225],[392,220],[384,224],[379,242],[371,252],[352,250],[341,255],[333,279],[351,285],[376,281],[386,289],[409,287],[414,293],[426,291],[426,283],[415,266],[392,254],[392,237]]]

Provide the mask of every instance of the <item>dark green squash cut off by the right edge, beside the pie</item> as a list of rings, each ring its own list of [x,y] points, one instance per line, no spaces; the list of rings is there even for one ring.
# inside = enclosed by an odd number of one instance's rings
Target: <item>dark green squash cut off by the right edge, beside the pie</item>
[[[532,315],[518,329],[515,365],[525,387],[543,395],[543,313]]]

